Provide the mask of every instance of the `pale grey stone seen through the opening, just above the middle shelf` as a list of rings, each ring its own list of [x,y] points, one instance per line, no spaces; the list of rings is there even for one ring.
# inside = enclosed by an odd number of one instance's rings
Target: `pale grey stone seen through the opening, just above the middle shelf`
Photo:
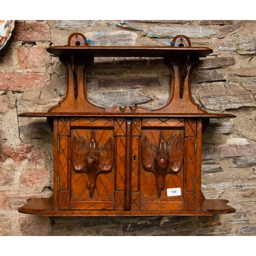
[[[136,106],[153,100],[153,98],[141,89],[115,91],[107,93],[90,93],[88,97],[96,104],[103,106]]]

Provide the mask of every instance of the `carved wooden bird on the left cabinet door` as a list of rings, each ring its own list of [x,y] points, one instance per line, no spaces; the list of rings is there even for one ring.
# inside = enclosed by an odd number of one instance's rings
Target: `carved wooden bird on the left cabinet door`
[[[72,164],[76,172],[87,173],[87,188],[90,197],[96,187],[96,179],[98,174],[110,172],[114,161],[114,146],[112,139],[103,145],[99,150],[95,140],[94,131],[91,132],[91,141],[88,143],[83,137],[73,137],[72,139]]]

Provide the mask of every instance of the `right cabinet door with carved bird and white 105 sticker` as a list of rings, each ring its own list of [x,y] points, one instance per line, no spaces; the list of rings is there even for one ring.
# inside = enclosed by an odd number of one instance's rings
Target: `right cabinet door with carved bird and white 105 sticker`
[[[140,209],[195,210],[197,121],[143,118],[141,126]]]

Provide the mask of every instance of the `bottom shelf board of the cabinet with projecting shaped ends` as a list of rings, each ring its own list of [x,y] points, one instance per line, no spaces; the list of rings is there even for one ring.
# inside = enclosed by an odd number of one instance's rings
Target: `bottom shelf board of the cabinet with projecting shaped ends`
[[[28,199],[28,203],[18,208],[23,214],[38,214],[44,217],[72,216],[212,216],[231,214],[236,209],[227,205],[224,199],[203,199],[200,210],[54,210],[53,198]]]

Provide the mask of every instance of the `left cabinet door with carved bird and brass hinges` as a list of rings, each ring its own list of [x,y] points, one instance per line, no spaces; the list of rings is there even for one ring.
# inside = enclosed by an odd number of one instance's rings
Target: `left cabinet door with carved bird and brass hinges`
[[[114,209],[114,119],[59,118],[58,123],[58,208]]]

